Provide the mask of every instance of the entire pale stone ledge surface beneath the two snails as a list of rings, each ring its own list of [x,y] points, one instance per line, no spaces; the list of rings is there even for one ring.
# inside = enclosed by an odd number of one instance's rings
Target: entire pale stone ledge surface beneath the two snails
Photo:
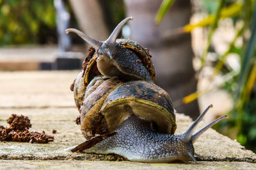
[[[74,107],[69,86],[79,71],[0,72],[0,125],[12,113],[31,119],[30,131],[57,131],[54,142],[31,144],[0,142],[0,169],[256,169],[256,155],[236,141],[210,129],[195,143],[195,152],[202,161],[183,164],[143,164],[122,160],[116,155],[69,153],[64,149],[84,141],[74,120]],[[214,110],[212,108],[211,110]],[[211,114],[211,111],[209,111]],[[177,134],[191,125],[191,119],[177,115]],[[200,124],[203,127],[204,123]],[[198,127],[198,129],[200,129]],[[99,161],[104,160],[104,161]],[[214,161],[214,162],[212,162]]]

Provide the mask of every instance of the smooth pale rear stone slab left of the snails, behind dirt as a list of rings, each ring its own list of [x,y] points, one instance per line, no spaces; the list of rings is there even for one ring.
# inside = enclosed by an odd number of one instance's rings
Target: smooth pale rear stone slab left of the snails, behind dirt
[[[74,106],[70,85],[79,71],[0,72],[0,108]]]

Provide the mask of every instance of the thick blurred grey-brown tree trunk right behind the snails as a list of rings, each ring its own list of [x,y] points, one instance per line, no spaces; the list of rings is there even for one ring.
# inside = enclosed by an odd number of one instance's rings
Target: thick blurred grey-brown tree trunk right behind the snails
[[[157,85],[170,94],[176,110],[195,119],[199,115],[197,101],[186,105],[175,102],[196,91],[191,35],[166,36],[166,32],[189,23],[191,3],[190,0],[175,1],[161,24],[155,25],[160,4],[161,1],[156,0],[125,0],[127,16],[134,17],[134,21],[129,22],[130,37],[150,50]]]

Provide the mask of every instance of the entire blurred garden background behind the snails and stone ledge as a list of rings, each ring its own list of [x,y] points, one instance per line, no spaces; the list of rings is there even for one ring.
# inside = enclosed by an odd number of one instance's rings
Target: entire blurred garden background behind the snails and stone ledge
[[[213,104],[205,122],[228,113],[214,128],[256,152],[253,0],[0,0],[0,71],[81,69],[88,45],[65,29],[103,41],[128,16],[122,38],[149,49],[177,112]]]

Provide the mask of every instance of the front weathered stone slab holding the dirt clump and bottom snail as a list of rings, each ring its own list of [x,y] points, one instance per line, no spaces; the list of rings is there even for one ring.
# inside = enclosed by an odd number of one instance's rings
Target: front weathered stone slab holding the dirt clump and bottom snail
[[[18,142],[0,142],[0,159],[24,160],[116,160],[119,157],[88,155],[85,153],[65,152],[65,148],[78,145],[84,141],[79,125],[74,123],[78,111],[76,108],[36,108],[36,109],[8,109],[0,111],[0,125],[11,113],[24,114],[31,118],[31,131],[45,131],[54,134],[54,142],[49,144],[31,144]],[[191,124],[189,117],[177,114],[177,134],[188,129]],[[204,124],[200,124],[200,127]],[[198,128],[198,129],[199,129]],[[256,162],[256,155],[250,150],[244,150],[236,141],[210,129],[195,143],[195,152],[202,156],[202,160],[212,161],[241,161]]]

